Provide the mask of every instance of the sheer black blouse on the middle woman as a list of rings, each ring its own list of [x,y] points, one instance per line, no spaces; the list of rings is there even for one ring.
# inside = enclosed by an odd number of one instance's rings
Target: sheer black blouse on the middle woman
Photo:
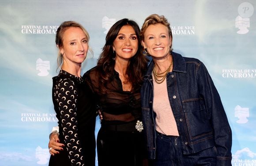
[[[97,67],[86,72],[83,78],[93,91],[104,120],[129,122],[140,118],[140,89],[124,91],[118,72],[114,72],[111,82],[107,84],[106,92],[99,89],[101,78]]]

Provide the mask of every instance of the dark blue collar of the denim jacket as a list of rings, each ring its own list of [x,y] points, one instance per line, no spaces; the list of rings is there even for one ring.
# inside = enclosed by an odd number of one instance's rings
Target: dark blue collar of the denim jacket
[[[171,51],[171,54],[173,55],[173,72],[184,72],[186,73],[186,64],[184,58],[181,56],[181,54],[177,54],[173,51]],[[150,64],[148,65],[148,70],[146,75],[144,76],[144,79],[150,78],[152,74],[154,66],[154,61],[151,60]]]

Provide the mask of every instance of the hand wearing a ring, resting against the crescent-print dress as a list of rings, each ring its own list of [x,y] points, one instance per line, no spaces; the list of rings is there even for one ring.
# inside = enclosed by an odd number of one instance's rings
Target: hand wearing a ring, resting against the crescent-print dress
[[[49,152],[51,155],[59,154],[56,150],[63,151],[64,144],[59,143],[59,135],[56,133],[51,134],[50,141],[48,144]]]

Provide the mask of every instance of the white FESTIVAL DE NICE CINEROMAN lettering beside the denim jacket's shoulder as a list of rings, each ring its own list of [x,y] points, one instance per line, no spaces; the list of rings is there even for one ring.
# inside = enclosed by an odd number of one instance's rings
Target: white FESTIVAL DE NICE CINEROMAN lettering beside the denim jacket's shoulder
[[[222,69],[223,78],[256,78],[256,69]]]

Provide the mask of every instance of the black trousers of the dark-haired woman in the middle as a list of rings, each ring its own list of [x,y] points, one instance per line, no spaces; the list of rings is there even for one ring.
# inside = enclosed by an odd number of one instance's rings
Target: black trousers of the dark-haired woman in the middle
[[[98,166],[147,165],[143,135],[138,131],[114,131],[101,127],[97,152]]]

